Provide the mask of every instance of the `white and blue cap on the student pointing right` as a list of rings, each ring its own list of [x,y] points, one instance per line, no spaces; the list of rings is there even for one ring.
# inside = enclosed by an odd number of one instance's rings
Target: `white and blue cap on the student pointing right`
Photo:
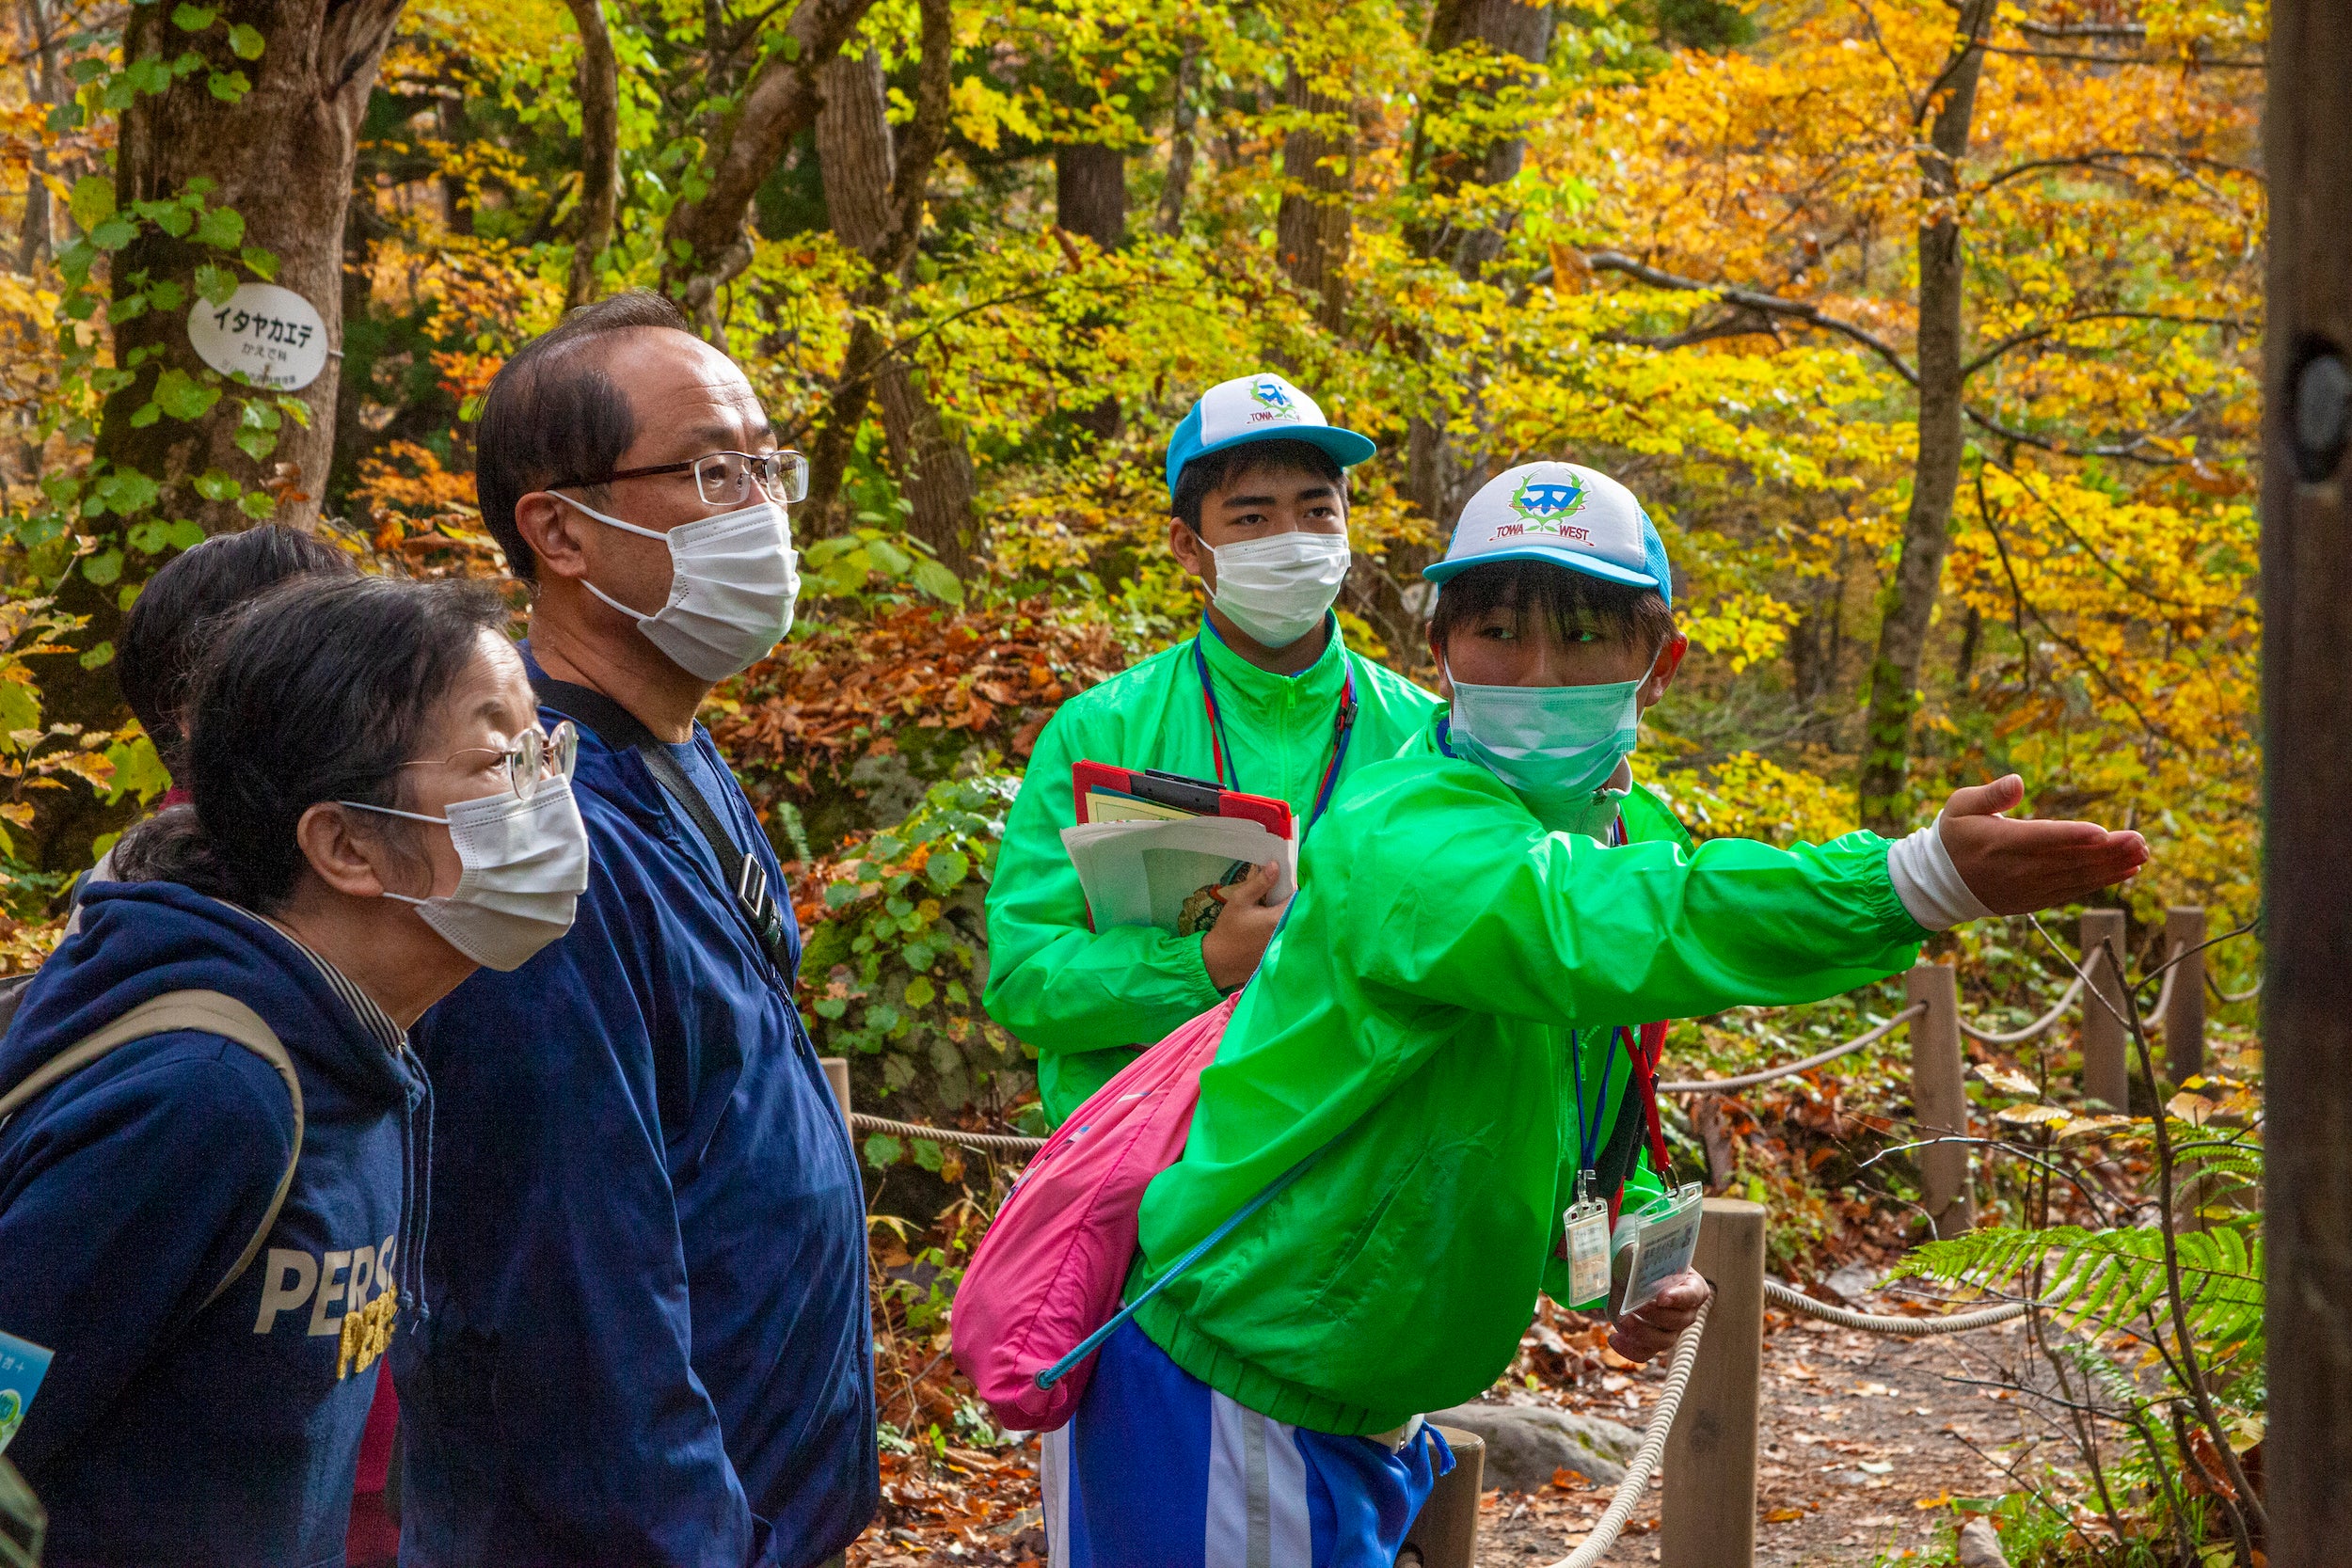
[[[1675,602],[1675,571],[1649,512],[1581,463],[1519,463],[1486,480],[1463,505],[1444,559],[1421,576],[1444,583],[1489,562],[1550,562]]]

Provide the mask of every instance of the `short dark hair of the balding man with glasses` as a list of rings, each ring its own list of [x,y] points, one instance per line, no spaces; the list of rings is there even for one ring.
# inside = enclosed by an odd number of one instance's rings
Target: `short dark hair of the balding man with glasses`
[[[609,473],[637,440],[628,395],[583,350],[644,327],[694,331],[666,294],[628,289],[572,310],[489,381],[473,428],[473,489],[482,524],[524,583],[539,578],[539,557],[515,527],[515,503],[562,477]]]

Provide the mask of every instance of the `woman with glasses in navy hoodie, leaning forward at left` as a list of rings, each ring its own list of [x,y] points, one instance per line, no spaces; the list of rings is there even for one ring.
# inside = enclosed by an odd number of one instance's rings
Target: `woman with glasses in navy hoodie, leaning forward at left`
[[[572,926],[588,842],[482,585],[294,581],[195,672],[181,783],[0,1039],[9,1458],[73,1563],[341,1561],[428,1316],[407,1030]],[[21,1352],[31,1354],[31,1352]]]

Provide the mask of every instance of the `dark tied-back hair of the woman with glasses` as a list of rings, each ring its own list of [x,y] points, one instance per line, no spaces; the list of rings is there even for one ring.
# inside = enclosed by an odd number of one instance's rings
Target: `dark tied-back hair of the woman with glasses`
[[[280,910],[306,865],[301,813],[329,799],[397,806],[400,764],[482,632],[503,628],[506,602],[475,581],[296,578],[233,611],[183,710],[195,804],[122,835],[115,875]],[[372,813],[369,827],[414,832]]]

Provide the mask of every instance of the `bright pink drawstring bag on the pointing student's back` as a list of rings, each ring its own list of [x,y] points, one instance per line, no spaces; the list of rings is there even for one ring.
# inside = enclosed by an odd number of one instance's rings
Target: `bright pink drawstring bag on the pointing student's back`
[[[1061,1124],[1014,1182],[955,1291],[955,1363],[997,1422],[1054,1432],[1077,1410],[1094,1349],[1143,1305],[1120,1309],[1136,1258],[1143,1190],[1183,1154],[1200,1072],[1216,1060],[1240,992],[1157,1046]],[[1258,1201],[1272,1197],[1277,1180]],[[1160,1281],[1207,1251],[1256,1204],[1218,1227]],[[1157,1288],[1157,1286],[1155,1286]],[[1044,1382],[1047,1387],[1040,1387]]]

